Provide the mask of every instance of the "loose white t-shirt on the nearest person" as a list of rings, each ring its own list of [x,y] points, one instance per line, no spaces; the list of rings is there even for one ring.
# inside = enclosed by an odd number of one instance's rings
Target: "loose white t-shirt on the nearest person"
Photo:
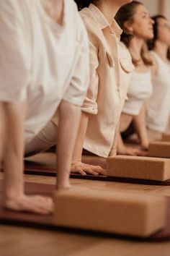
[[[63,26],[41,0],[0,1],[0,101],[27,99],[25,144],[51,119],[61,100],[81,106],[89,85],[89,42],[72,0]]]

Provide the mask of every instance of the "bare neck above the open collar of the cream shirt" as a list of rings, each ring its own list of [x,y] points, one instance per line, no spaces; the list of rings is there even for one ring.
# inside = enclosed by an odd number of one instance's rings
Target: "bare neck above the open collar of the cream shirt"
[[[104,14],[104,17],[109,22],[109,25],[111,25],[115,14],[117,13],[118,9],[120,9],[120,6],[112,3],[112,1],[109,1],[107,4],[105,3],[105,1],[99,1],[96,6]]]

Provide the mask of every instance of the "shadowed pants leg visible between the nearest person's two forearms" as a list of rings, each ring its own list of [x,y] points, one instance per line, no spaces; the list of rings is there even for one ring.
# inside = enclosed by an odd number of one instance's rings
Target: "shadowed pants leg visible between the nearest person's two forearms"
[[[24,156],[35,155],[56,145],[57,130],[58,127],[49,121],[40,133],[25,145]]]

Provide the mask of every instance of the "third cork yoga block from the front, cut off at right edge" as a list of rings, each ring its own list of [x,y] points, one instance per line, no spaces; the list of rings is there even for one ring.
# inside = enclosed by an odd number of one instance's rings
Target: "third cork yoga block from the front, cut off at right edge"
[[[148,155],[157,158],[170,158],[170,142],[151,142]]]

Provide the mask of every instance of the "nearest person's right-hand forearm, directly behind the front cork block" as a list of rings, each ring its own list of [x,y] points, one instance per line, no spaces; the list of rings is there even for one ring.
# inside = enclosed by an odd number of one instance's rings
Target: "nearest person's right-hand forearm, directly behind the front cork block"
[[[81,109],[79,106],[62,101],[58,114],[60,121],[57,137],[57,189],[62,189],[69,186],[73,148],[79,128]]]

